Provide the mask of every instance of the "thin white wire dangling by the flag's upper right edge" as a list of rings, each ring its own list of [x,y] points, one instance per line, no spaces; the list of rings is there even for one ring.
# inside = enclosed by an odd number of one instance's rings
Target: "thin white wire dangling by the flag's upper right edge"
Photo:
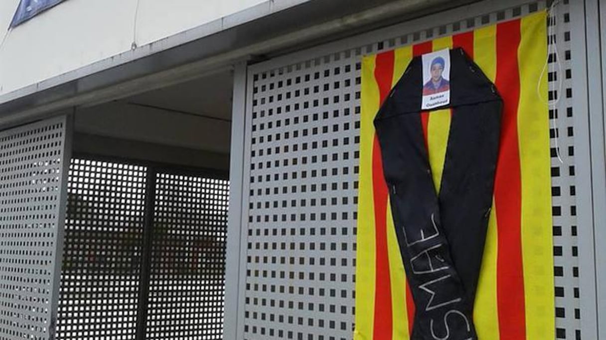
[[[556,10],[556,5],[559,4],[559,2],[560,0],[555,0],[551,2],[551,6],[547,11],[547,18],[549,20],[549,26],[547,28],[547,36],[549,39],[549,41],[547,42],[547,57],[545,59],[545,64],[543,65],[543,70],[541,70],[541,77],[539,77],[539,82],[536,84],[536,93],[538,94],[539,99],[545,104],[547,104],[548,108],[553,110],[553,118],[551,119],[551,121],[553,122],[553,140],[556,147],[556,156],[558,156],[558,160],[560,161],[560,163],[564,164],[564,160],[562,160],[562,157],[560,155],[560,147],[558,145],[559,130],[557,120],[559,115],[558,110],[556,109],[556,105],[558,105],[558,102],[560,101],[560,97],[562,95],[562,64],[560,62],[560,56],[558,53],[558,44],[556,44],[556,41],[554,41],[553,39],[553,27],[556,25],[556,19],[558,18],[558,11]],[[547,66],[549,64],[549,56],[551,55],[552,51],[554,57],[556,58],[556,64],[558,65],[558,91],[556,91],[554,99],[551,100],[550,103],[549,99],[545,99],[543,96],[541,96],[541,83],[545,75],[545,70],[547,70]]]

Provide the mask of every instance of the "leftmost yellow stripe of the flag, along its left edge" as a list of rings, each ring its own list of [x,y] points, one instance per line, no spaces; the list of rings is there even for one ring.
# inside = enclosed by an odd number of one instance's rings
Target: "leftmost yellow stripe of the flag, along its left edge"
[[[373,337],[375,314],[375,204],[373,202],[372,157],[379,110],[379,87],[375,81],[375,58],[362,59],[360,117],[360,177],[358,191],[358,240],[356,250],[356,330],[355,340]]]

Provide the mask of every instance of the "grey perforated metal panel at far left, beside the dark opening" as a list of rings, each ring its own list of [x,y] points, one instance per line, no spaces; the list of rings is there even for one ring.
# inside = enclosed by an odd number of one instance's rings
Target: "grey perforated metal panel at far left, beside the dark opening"
[[[55,333],[68,133],[65,117],[0,132],[0,339]]]

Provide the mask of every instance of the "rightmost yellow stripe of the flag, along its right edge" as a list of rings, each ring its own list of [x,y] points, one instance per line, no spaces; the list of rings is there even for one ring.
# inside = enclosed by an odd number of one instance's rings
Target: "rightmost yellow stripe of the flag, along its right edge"
[[[553,239],[548,106],[537,93],[547,56],[547,13],[521,21],[518,138],[522,177],[522,263],[527,339],[554,338]],[[547,74],[539,90],[547,98]]]

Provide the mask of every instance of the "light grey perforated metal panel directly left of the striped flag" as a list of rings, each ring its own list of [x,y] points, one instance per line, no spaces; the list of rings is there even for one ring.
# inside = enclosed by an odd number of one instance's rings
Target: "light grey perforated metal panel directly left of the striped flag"
[[[245,339],[349,339],[359,51],[252,74]]]

